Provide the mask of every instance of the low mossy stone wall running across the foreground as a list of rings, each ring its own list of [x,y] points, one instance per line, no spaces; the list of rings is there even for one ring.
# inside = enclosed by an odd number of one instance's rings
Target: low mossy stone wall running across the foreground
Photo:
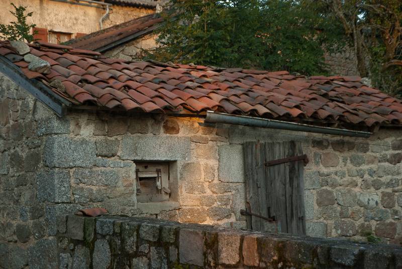
[[[57,244],[59,268],[402,266],[402,248],[395,245],[119,216],[61,218]]]

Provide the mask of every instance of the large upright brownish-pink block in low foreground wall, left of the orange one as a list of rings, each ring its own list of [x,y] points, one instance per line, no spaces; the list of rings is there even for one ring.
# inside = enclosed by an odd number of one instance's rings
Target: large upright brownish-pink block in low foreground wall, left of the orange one
[[[180,263],[204,266],[204,240],[204,235],[201,231],[180,230]]]

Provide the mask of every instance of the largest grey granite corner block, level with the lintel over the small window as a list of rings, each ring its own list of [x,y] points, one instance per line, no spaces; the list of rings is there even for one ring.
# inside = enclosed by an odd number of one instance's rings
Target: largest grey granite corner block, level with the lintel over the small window
[[[45,142],[44,160],[49,167],[91,167],[96,160],[95,143],[65,136],[48,137]]]

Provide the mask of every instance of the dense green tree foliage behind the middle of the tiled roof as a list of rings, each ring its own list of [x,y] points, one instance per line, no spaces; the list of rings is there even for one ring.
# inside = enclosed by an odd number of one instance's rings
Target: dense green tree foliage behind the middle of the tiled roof
[[[171,0],[151,57],[221,67],[325,72],[324,49],[342,48],[336,20],[293,0]]]

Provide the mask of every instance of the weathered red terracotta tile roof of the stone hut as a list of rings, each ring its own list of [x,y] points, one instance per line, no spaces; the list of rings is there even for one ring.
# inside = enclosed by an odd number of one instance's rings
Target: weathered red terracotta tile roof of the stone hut
[[[402,126],[400,100],[361,83],[359,77],[292,76],[240,68],[214,70],[205,66],[164,67],[150,62],[108,59],[69,46],[33,44],[31,51],[51,64],[49,74],[28,69],[28,63],[7,41],[0,55],[31,79],[49,84],[59,80],[65,92],[52,88],[74,104],[124,108],[143,112],[231,114],[321,121],[370,127]],[[222,69],[221,69],[222,70]]]

